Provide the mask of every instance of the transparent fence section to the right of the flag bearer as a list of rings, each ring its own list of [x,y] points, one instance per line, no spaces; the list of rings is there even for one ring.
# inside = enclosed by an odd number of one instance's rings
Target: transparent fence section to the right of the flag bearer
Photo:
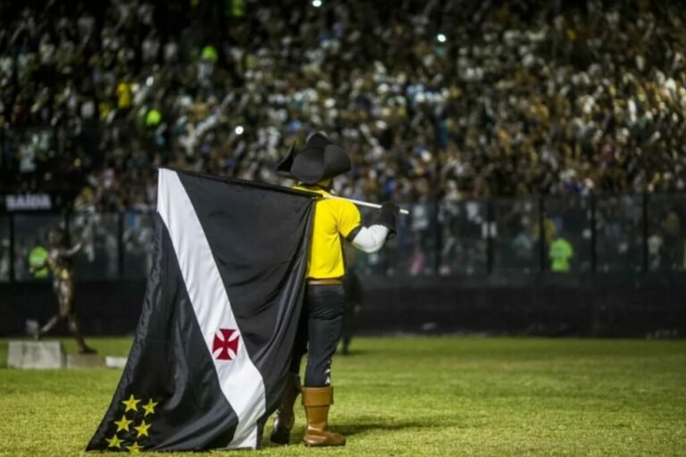
[[[397,237],[379,253],[357,254],[357,268],[400,276],[686,271],[684,194],[401,206],[410,214]]]

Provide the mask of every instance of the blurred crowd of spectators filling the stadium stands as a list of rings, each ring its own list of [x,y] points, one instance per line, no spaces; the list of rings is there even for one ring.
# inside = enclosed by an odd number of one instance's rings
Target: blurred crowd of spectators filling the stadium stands
[[[644,0],[0,2],[0,191],[120,212],[155,207],[163,165],[288,185],[275,164],[322,130],[354,162],[339,193],[413,204],[413,274],[498,264],[487,234],[593,269],[591,236],[636,268],[673,238],[682,268],[683,198],[646,214],[640,195],[686,191],[685,19]],[[617,194],[592,216],[568,198]]]

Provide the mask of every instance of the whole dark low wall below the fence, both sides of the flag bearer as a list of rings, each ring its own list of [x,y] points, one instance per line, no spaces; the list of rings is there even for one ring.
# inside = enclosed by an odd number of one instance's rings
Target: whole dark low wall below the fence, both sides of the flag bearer
[[[136,328],[143,281],[82,282],[79,316],[87,335]],[[49,284],[0,285],[0,336],[24,333],[57,310]],[[365,334],[489,333],[574,337],[686,335],[682,274],[533,275],[481,278],[362,278]],[[66,334],[66,324],[60,329]]]

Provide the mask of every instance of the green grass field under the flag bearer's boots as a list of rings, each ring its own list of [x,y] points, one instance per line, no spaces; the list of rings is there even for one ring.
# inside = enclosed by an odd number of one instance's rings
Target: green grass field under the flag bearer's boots
[[[126,355],[130,339],[89,343]],[[255,455],[686,455],[684,341],[359,338],[354,351],[333,365],[330,425],[347,445]],[[0,455],[86,454],[120,370],[11,370],[6,352],[0,340]]]

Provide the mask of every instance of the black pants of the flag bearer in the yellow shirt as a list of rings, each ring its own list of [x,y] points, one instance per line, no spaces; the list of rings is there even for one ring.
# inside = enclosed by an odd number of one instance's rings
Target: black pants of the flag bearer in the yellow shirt
[[[307,387],[331,383],[331,357],[339,345],[345,305],[342,285],[307,286],[290,363],[291,372],[299,373],[300,361],[308,352],[304,384]]]

